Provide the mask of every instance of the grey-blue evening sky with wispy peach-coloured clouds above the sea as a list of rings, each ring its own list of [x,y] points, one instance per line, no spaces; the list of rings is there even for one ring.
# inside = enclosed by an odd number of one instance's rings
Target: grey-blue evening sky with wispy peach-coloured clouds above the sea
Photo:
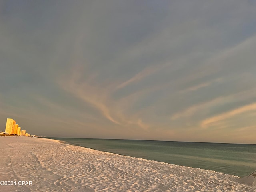
[[[256,1],[0,0],[0,130],[256,144]]]

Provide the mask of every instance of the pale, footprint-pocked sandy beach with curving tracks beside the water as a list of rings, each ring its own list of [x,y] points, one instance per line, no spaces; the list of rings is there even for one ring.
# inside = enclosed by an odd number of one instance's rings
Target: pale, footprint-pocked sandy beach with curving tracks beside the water
[[[56,140],[0,137],[0,181],[16,181],[14,186],[0,186],[1,192],[256,192],[253,183],[239,179]],[[32,181],[32,186],[19,186],[19,181]]]

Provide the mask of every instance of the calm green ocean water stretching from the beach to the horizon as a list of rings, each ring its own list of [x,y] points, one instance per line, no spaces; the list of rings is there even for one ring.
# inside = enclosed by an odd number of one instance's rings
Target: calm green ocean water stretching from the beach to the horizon
[[[244,177],[256,170],[256,145],[149,140],[52,138],[100,151]]]

